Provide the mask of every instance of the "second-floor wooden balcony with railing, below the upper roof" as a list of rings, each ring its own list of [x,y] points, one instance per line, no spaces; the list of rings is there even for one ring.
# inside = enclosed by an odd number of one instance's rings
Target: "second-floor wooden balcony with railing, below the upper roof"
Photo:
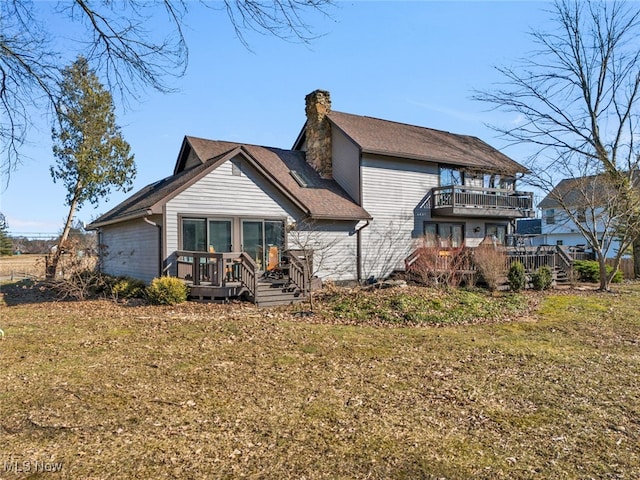
[[[532,192],[452,185],[431,191],[431,215],[442,217],[532,218]]]

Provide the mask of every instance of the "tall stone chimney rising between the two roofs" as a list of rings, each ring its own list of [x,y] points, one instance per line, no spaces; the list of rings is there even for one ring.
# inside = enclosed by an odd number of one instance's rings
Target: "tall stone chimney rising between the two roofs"
[[[304,100],[307,114],[307,163],[321,177],[331,178],[331,125],[326,118],[331,112],[331,96],[326,90],[315,90]]]

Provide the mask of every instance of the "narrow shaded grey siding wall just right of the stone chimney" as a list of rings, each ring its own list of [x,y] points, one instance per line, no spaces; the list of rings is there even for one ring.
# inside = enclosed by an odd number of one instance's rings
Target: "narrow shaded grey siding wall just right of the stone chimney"
[[[331,132],[333,179],[356,202],[360,202],[360,149],[339,129]]]

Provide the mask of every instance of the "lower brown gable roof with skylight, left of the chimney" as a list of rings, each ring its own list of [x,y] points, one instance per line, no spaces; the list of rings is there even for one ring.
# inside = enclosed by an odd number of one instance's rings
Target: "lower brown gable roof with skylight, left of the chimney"
[[[184,169],[191,153],[195,154],[201,163]],[[162,206],[168,200],[225,161],[237,156],[247,160],[277,190],[313,219],[371,218],[334,180],[322,179],[306,163],[304,152],[187,136],[176,162],[177,173],[142,188],[101,215],[89,225],[89,228],[162,213]],[[291,175],[291,170],[301,172],[304,178],[309,180],[308,186],[302,187]]]

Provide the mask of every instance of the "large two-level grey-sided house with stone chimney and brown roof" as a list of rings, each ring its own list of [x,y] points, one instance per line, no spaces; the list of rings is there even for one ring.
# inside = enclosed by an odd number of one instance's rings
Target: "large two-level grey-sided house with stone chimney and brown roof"
[[[304,244],[330,250],[319,277],[362,281],[403,268],[425,234],[474,247],[533,216],[516,190],[527,170],[478,138],[334,112],[321,90],[306,114],[291,150],[185,137],[173,175],[90,225],[102,269],[176,275],[178,251],[244,251],[265,269]]]

